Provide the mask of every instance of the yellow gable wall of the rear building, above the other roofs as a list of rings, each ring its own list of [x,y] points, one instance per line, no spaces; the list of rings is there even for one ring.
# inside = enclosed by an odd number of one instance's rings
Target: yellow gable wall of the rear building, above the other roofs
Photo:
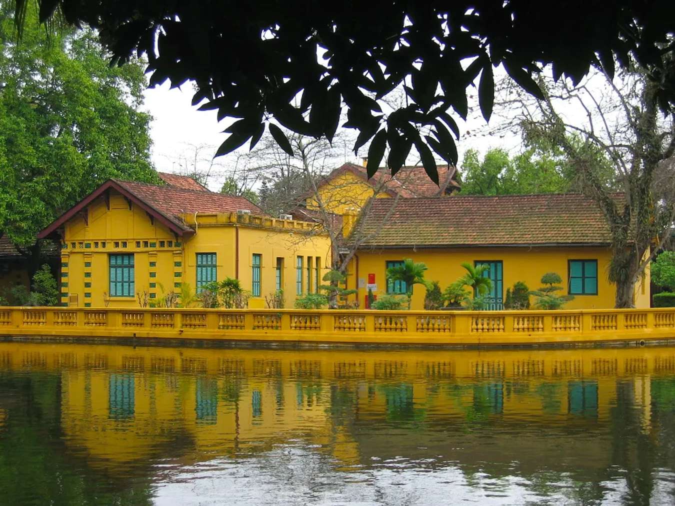
[[[326,210],[338,215],[344,215],[348,210],[362,208],[366,200],[375,193],[373,187],[351,172],[344,172],[325,182],[318,188],[321,202]],[[389,194],[379,192],[377,198],[389,197]],[[307,199],[308,208],[317,208],[319,204],[314,197]]]

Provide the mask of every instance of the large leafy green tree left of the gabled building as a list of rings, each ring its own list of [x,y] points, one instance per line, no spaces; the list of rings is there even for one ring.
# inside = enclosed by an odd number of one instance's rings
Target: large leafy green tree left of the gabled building
[[[142,64],[110,67],[92,30],[47,38],[36,4],[20,43],[0,3],[0,234],[20,247],[110,177],[154,181]]]

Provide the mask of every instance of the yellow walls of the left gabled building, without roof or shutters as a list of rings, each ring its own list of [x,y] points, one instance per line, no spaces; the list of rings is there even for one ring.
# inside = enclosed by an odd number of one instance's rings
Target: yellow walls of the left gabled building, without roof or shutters
[[[250,290],[252,255],[261,254],[261,296],[253,298],[250,307],[264,307],[264,296],[275,291],[277,258],[284,258],[283,288],[286,304],[292,307],[296,256],[319,257],[323,269],[329,261],[329,240],[309,224],[241,219],[240,223],[229,213],[184,216],[196,233],[182,240],[144,210],[111,192],[109,208],[101,197],[90,204],[86,217],[79,215],[65,224],[61,300],[68,302],[70,296],[74,306],[104,306],[104,293],[109,293],[110,254],[134,254],[134,291],[147,291],[151,303],[159,301],[163,293],[180,292],[181,283],[189,283],[194,291],[198,253],[216,254],[218,280],[238,277],[242,287]],[[135,294],[113,298],[109,304],[138,307]]]

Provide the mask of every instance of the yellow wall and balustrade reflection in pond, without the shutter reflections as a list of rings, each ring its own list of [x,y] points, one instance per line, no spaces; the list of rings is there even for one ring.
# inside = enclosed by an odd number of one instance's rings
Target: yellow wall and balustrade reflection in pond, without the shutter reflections
[[[650,430],[651,374],[675,372],[674,356],[668,348],[269,352],[0,343],[0,370],[61,371],[65,441],[86,449],[92,466],[124,473],[130,463],[164,455],[167,446],[178,459],[199,461],[268,451],[293,439],[354,465],[362,454],[358,434],[331,418],[331,407],[341,408],[331,385],[352,391],[356,404],[342,409],[366,424],[389,416],[387,387],[409,389],[420,421],[448,422],[471,420],[476,396],[499,389],[499,405],[488,399],[483,416],[498,416],[500,424],[540,424],[547,433],[585,424],[568,405],[575,384],[597,385],[597,406],[589,416],[608,423],[618,382],[632,382],[634,404],[642,407],[644,430]],[[115,374],[134,378],[128,418],[111,416],[109,382]],[[556,386],[553,395],[539,396],[546,385]],[[203,397],[212,387],[215,416],[198,419],[197,391]]]

